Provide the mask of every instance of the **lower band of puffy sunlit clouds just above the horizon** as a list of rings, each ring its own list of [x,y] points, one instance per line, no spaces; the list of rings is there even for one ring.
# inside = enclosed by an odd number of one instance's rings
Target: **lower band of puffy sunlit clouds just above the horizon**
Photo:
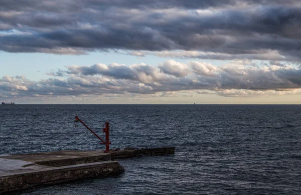
[[[249,63],[250,65],[245,65]],[[232,61],[220,66],[207,62],[182,63],[167,60],[158,65],[144,63],[71,65],[49,75],[56,78],[33,81],[25,76],[3,76],[2,97],[76,96],[102,94],[179,95],[217,94],[221,96],[254,96],[299,94],[299,67],[270,61],[256,66],[250,61]]]

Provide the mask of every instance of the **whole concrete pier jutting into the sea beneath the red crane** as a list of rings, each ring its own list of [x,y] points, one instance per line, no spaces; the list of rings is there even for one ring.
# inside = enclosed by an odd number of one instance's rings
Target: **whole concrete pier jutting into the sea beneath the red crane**
[[[175,153],[175,147],[125,148],[124,150],[62,150],[0,156],[0,194],[41,184],[106,177],[123,167],[114,159]]]

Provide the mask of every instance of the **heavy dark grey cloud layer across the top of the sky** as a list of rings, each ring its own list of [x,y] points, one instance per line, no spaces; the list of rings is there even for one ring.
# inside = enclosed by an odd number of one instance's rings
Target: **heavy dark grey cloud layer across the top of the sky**
[[[300,29],[299,0],[0,1],[0,50],[8,52],[299,61]]]

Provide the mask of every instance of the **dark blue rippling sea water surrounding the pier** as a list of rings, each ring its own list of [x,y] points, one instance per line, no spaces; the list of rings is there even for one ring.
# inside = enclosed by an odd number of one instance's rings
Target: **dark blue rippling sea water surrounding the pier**
[[[300,194],[301,105],[0,105],[0,154],[103,145],[176,146],[168,156],[119,160],[125,172],[25,194]]]

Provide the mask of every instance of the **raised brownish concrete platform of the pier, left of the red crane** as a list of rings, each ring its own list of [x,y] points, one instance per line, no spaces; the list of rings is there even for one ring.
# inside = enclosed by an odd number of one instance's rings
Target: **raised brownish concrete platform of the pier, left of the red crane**
[[[110,160],[110,154],[103,150],[61,150],[28,154],[2,156],[8,159],[19,159],[46,166],[66,166]]]

